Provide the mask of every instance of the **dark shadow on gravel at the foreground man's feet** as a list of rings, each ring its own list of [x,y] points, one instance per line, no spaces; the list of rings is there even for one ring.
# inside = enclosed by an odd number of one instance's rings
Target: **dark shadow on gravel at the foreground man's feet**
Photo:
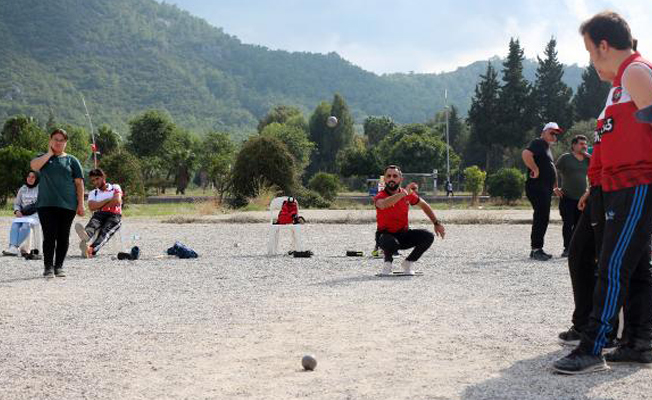
[[[613,394],[594,397],[589,392],[596,386],[628,377],[638,371],[636,367],[612,367],[611,370],[587,375],[567,376],[552,372],[552,363],[568,354],[560,350],[536,358],[517,361],[500,371],[500,377],[467,387],[462,393],[464,400],[480,399],[613,399]]]

